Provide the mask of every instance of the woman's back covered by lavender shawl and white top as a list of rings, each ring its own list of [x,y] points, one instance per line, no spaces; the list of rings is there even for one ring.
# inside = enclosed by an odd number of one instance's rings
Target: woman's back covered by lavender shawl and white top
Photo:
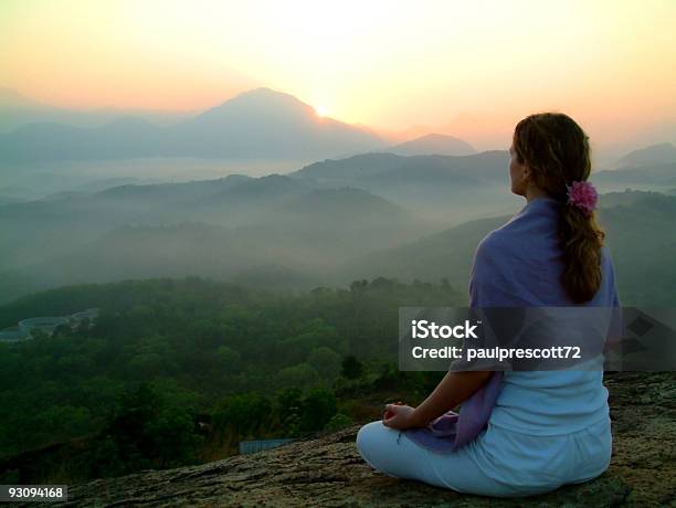
[[[574,304],[562,287],[557,236],[560,203],[537,198],[479,244],[469,284],[475,307],[617,305],[613,266],[602,248],[602,282],[594,297]],[[490,424],[530,435],[577,432],[609,419],[600,370],[508,371]]]

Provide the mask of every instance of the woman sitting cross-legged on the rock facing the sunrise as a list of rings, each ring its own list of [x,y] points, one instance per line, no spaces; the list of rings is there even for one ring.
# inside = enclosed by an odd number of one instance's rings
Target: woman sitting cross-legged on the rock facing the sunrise
[[[479,243],[469,306],[617,307],[584,131],[563,114],[531,115],[517,124],[509,152],[511,192],[526,204]],[[606,470],[612,436],[600,369],[500,372],[487,424],[451,453],[406,435],[462,406],[494,375],[448,372],[416,408],[388,404],[382,421],[360,428],[359,453],[385,475],[496,497],[542,494]]]

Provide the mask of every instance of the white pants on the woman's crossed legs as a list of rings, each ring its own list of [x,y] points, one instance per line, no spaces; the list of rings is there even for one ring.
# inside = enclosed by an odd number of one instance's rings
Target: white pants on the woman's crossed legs
[[[376,421],[357,434],[357,448],[374,469],[458,493],[495,497],[543,494],[588,481],[610,465],[610,420],[582,431],[532,436],[496,425],[456,452],[432,452],[404,432]]]

